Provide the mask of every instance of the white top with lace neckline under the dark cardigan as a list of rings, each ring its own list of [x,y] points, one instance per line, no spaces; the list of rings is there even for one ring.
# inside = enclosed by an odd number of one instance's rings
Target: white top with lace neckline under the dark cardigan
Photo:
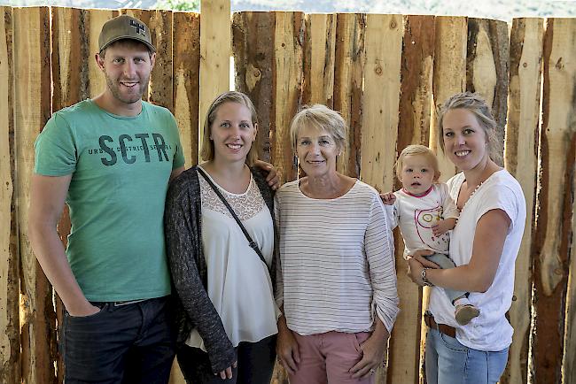
[[[250,248],[236,220],[207,181],[199,174],[198,180],[208,296],[234,347],[239,342],[258,342],[278,332],[276,319],[280,312],[274,302],[268,268]],[[211,180],[218,186],[214,179]],[[230,193],[220,186],[218,188],[270,265],[274,250],[274,227],[269,209],[252,175],[248,188],[242,194]],[[206,351],[197,330],[191,332],[186,343]]]

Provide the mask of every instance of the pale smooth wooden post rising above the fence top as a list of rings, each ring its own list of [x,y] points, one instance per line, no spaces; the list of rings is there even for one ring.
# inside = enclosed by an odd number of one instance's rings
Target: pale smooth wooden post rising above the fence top
[[[201,0],[200,121],[214,97],[230,90],[230,0]],[[199,142],[202,142],[202,130]]]

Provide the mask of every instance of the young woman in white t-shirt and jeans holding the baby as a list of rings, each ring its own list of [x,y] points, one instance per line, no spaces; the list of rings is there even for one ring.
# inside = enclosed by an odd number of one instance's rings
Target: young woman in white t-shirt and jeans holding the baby
[[[496,123],[486,102],[463,93],[440,111],[439,141],[462,172],[448,180],[460,218],[450,238],[456,267],[437,265],[416,255],[409,273],[419,285],[432,285],[428,311],[425,365],[428,383],[495,383],[500,379],[512,342],[505,317],[514,289],[514,263],[525,225],[522,188],[489,156]],[[454,307],[439,288],[470,292],[479,317],[460,326]]]

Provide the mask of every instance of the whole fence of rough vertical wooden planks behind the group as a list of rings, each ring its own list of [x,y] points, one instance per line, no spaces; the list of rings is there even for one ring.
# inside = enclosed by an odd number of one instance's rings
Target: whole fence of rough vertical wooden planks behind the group
[[[145,96],[174,112],[186,165],[198,163],[207,104],[230,87],[259,113],[256,145],[283,180],[298,175],[288,128],[301,105],[321,103],[348,122],[342,173],[390,190],[397,153],[437,149],[436,109],[455,92],[486,97],[500,125],[497,151],[524,189],[527,218],[516,264],[515,328],[504,383],[576,380],[576,19],[488,19],[362,13],[204,13],[0,7],[0,382],[59,383],[62,305],[27,237],[33,143],[51,112],[96,96],[94,62],[107,19],[128,13],[158,47]],[[229,27],[225,27],[229,25]],[[510,29],[510,32],[509,32]],[[455,173],[440,154],[442,179]],[[66,212],[58,230],[69,231]],[[406,277],[396,241],[401,314],[378,383],[422,377],[426,292]],[[183,382],[180,375],[171,379]],[[274,382],[287,382],[277,369]]]

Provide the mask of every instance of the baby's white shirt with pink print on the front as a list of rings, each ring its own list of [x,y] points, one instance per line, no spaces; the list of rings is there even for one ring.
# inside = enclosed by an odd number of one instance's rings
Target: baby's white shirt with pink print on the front
[[[458,209],[448,193],[448,185],[432,184],[423,196],[414,196],[403,188],[394,192],[393,228],[400,226],[404,239],[404,258],[416,250],[433,250],[448,255],[450,236],[435,236],[432,226],[441,219],[458,218]]]

